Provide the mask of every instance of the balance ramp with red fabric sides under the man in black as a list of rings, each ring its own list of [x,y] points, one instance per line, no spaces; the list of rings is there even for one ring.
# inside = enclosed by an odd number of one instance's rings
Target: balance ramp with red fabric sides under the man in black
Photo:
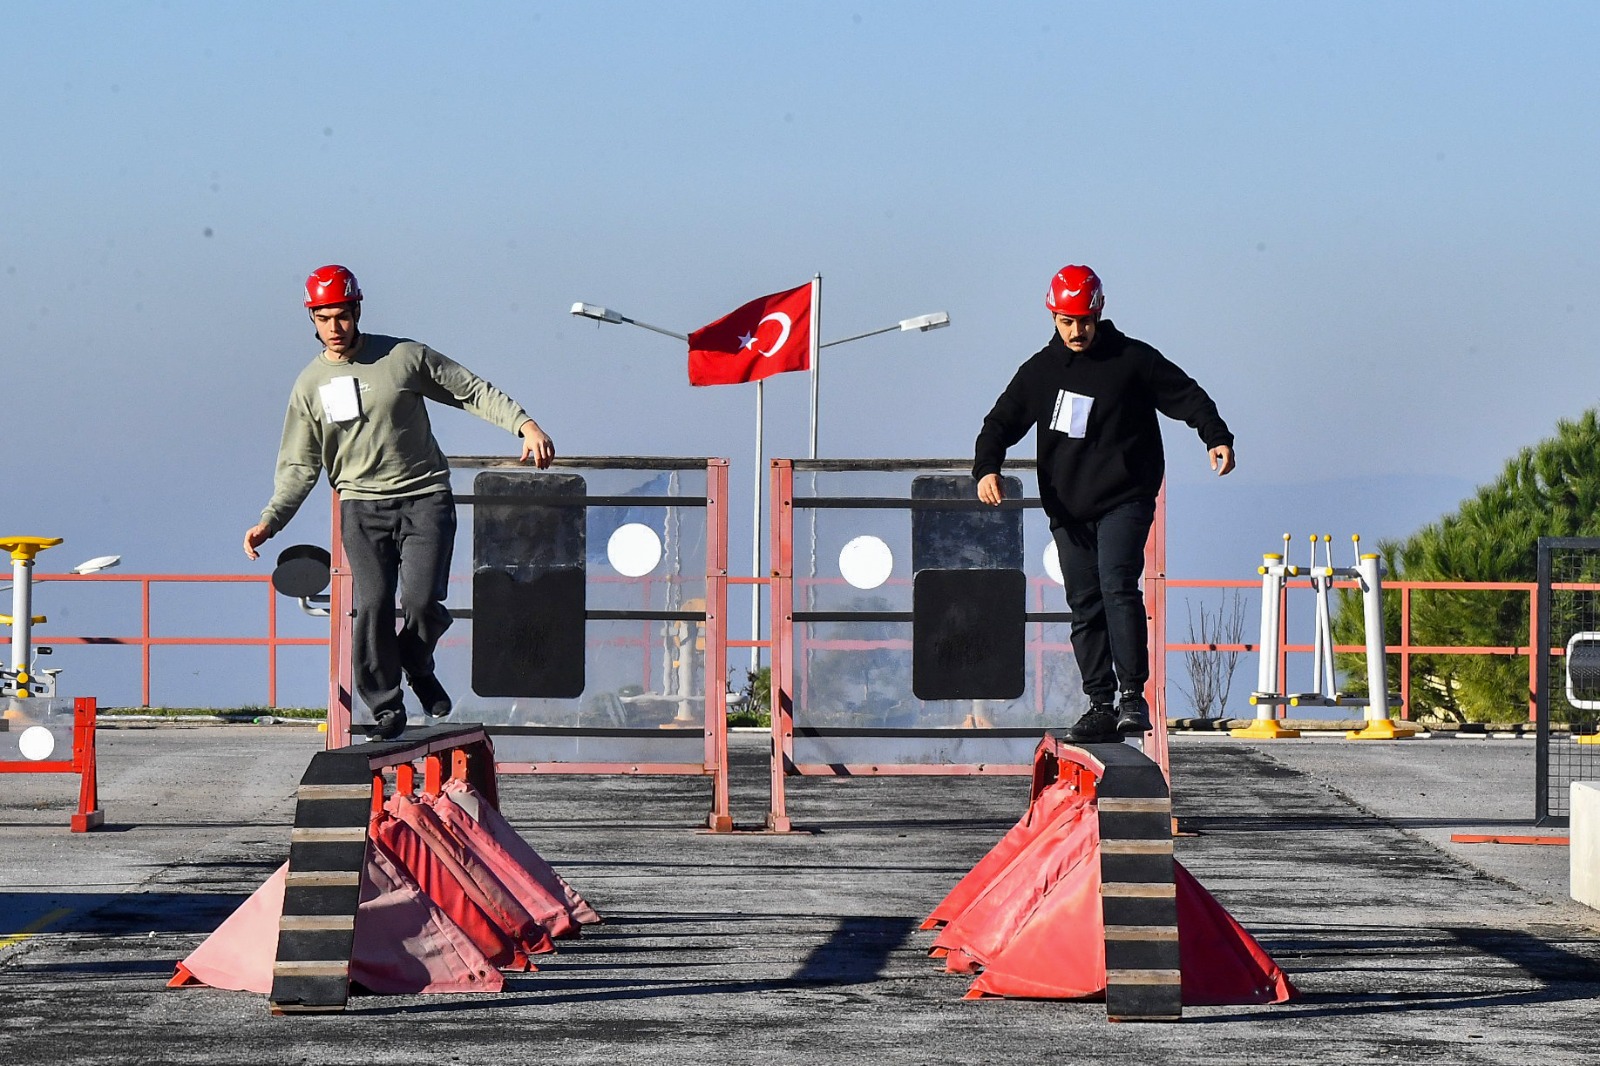
[[[1158,767],[1126,744],[1053,736],[1029,807],[933,909],[931,954],[976,973],[968,999],[1106,999],[1112,1020],[1270,1004],[1283,970],[1186,871]]]

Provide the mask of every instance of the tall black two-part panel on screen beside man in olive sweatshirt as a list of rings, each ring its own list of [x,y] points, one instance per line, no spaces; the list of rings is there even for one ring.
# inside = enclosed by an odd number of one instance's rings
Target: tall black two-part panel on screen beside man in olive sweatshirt
[[[578,474],[483,471],[472,482],[472,690],[581,696],[587,487]]]

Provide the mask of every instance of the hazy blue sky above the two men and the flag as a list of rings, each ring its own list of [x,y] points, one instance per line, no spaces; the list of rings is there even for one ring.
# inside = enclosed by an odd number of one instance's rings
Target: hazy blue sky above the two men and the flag
[[[6,5],[0,525],[67,536],[45,570],[245,570],[328,261],[562,451],[741,493],[749,389],[573,301],[690,330],[821,272],[824,339],[949,311],[822,386],[824,455],[947,456],[1088,262],[1238,435],[1202,491],[1168,432],[1195,576],[1250,573],[1262,501],[1405,533],[1594,402],[1597,56],[1594,3]],[[770,455],[805,395],[770,386]]]

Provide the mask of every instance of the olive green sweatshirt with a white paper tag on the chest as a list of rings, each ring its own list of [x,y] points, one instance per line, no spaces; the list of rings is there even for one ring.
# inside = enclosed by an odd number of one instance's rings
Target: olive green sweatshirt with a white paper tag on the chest
[[[450,464],[424,400],[464,408],[514,434],[530,421],[509,395],[429,346],[363,333],[349,360],[322,352],[294,379],[272,501],[261,520],[272,533],[282,530],[322,471],[344,499],[450,488]]]

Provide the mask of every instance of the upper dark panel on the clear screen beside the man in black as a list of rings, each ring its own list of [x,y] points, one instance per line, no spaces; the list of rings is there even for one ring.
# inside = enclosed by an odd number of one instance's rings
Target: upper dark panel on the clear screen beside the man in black
[[[1022,498],[1022,482],[1000,479],[1006,499]],[[923,474],[910,483],[912,499],[978,499],[978,482],[966,474]],[[910,568],[922,570],[1021,570],[1022,511],[910,512]],[[1021,600],[1019,600],[1021,602]]]

